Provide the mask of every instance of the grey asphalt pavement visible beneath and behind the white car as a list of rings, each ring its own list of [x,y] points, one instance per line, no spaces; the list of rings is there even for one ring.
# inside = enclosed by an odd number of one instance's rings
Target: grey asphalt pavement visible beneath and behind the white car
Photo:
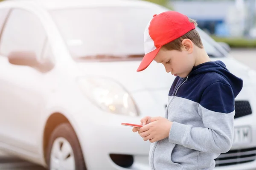
[[[256,48],[232,49],[230,54],[240,62],[256,70]],[[13,157],[1,156],[0,170],[46,170],[45,168]]]

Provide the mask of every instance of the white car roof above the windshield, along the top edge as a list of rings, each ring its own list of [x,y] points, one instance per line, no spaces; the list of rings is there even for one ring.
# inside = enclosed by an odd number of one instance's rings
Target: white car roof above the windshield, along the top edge
[[[28,4],[31,6],[41,6],[47,10],[63,8],[83,8],[99,6],[140,6],[156,7],[157,4],[145,2],[143,0],[5,0],[1,3]],[[160,6],[159,6],[160,7]]]

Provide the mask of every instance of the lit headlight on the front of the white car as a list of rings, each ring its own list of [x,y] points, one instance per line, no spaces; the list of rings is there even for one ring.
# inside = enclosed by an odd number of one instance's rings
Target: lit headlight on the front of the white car
[[[102,77],[80,77],[78,85],[91,102],[103,111],[138,116],[132,97],[118,82]]]

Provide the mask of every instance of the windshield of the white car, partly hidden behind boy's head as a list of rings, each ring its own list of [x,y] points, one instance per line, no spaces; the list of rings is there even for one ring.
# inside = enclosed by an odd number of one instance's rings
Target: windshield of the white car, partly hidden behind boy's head
[[[137,59],[144,56],[144,30],[163,8],[134,6],[50,11],[74,59]],[[202,32],[199,30],[200,33]],[[202,37],[210,57],[223,57]]]

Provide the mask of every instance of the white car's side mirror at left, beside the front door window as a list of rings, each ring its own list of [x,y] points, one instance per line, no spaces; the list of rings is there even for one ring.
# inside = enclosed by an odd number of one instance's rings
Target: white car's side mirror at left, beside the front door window
[[[37,66],[38,60],[34,52],[31,51],[15,51],[8,55],[9,62],[14,65]]]

